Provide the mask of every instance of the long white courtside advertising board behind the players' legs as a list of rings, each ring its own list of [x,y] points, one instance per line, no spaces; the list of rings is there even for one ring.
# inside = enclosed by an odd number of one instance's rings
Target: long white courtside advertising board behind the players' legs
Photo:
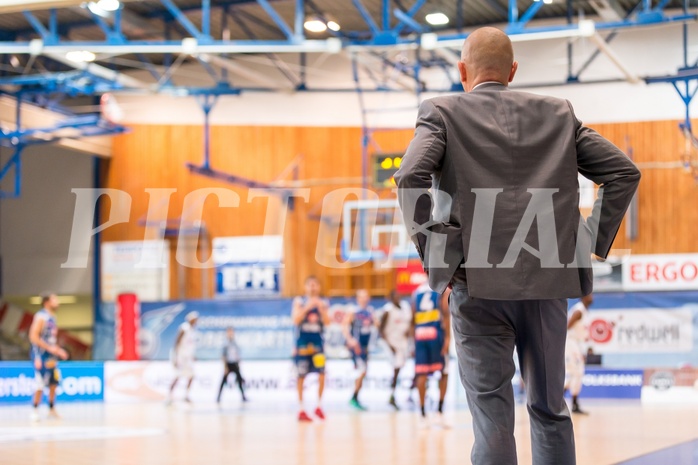
[[[451,361],[451,372],[457,373],[455,360]],[[269,404],[270,408],[279,403],[296,405],[297,375],[291,360],[287,361],[250,361],[240,364],[240,371],[245,379],[246,394],[255,407]],[[167,396],[174,379],[175,371],[167,362],[107,362],[105,364],[105,401],[123,402],[162,402]],[[194,382],[190,391],[193,402],[215,402],[218,388],[223,376],[221,362],[197,362]],[[387,405],[390,396],[390,383],[393,368],[386,360],[370,361],[368,373],[361,391],[362,403],[370,406]],[[399,378],[397,401],[404,403],[409,396],[409,388],[414,376],[414,365],[408,363]],[[348,360],[332,360],[327,364],[324,403],[347,405],[354,390],[356,372]],[[430,395],[438,398],[438,377],[429,381]],[[315,398],[317,377],[310,375],[306,380],[309,398]],[[175,390],[175,399],[184,398],[184,383]],[[453,406],[458,391],[462,390],[458,376],[449,377],[447,404]],[[413,394],[416,399],[416,392]],[[227,389],[223,401],[235,402],[239,399],[237,388]]]

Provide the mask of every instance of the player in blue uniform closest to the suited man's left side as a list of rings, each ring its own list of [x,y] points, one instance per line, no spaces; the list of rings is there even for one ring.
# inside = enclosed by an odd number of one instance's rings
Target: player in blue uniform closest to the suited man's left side
[[[433,291],[428,283],[419,286],[413,294],[414,311],[414,371],[417,377],[419,408],[426,419],[424,408],[427,377],[441,373],[439,380],[439,421],[443,423],[443,406],[448,386],[448,349],[451,340],[451,314],[448,311],[448,295]]]

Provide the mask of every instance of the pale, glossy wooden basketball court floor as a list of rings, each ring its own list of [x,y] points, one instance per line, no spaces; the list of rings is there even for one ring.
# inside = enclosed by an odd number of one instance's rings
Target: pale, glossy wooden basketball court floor
[[[415,412],[327,406],[324,423],[298,424],[292,406],[62,405],[62,420],[32,424],[26,406],[0,408],[2,465],[465,465],[467,410],[450,429],[422,429]],[[698,406],[587,401],[575,417],[578,463],[615,464],[698,438]],[[531,463],[528,417],[517,411],[519,463]],[[506,465],[506,464],[503,464]],[[658,464],[660,465],[660,464]],[[661,464],[665,465],[665,464]],[[670,465],[683,465],[672,463]]]

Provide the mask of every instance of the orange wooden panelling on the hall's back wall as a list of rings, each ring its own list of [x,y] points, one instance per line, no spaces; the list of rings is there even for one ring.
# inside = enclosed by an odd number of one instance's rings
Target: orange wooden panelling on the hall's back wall
[[[633,253],[695,252],[697,246],[693,236],[698,225],[698,186],[682,169],[650,168],[647,165],[680,159],[683,138],[677,122],[598,124],[592,127],[621,149],[632,148],[635,161],[645,166],[639,192],[639,236],[637,240],[629,241],[623,228],[616,248],[631,249]],[[384,152],[402,151],[412,134],[409,129],[379,132],[375,140]],[[331,271],[315,260],[320,222],[309,219],[309,215],[320,214],[322,200],[332,189],[360,185],[356,183],[361,176],[360,142],[359,128],[217,126],[211,130],[211,165],[241,177],[272,182],[299,155],[302,157],[298,181],[301,187],[310,187],[311,193],[309,202],[296,202],[285,224],[284,279],[289,295],[301,291],[303,278],[308,274],[320,276],[326,287],[337,286],[337,282],[352,282],[357,283],[355,285],[368,284],[378,292],[386,287],[386,283],[389,284],[391,277],[379,276],[370,265],[346,272]],[[132,196],[133,203],[129,223],[108,228],[103,233],[103,240],[144,238],[145,229],[139,221],[145,218],[148,210],[146,189],[149,188],[177,189],[167,212],[171,220],[181,217],[184,197],[188,193],[210,187],[231,189],[240,196],[238,208],[219,208],[213,198],[205,204],[202,219],[210,237],[262,234],[267,201],[248,202],[246,188],[192,174],[185,168],[185,163],[201,163],[202,159],[203,129],[200,126],[135,126],[129,133],[115,138],[114,157],[104,174],[103,185],[125,190]],[[174,261],[175,246],[176,238],[172,238],[173,298],[178,297],[178,282],[181,282]],[[332,241],[321,244],[320,248],[331,249]],[[200,251],[200,258],[207,258],[209,253],[208,249]],[[211,270],[207,273],[211,294],[213,273]],[[204,294],[200,270],[186,269],[183,279],[185,297],[197,298]]]

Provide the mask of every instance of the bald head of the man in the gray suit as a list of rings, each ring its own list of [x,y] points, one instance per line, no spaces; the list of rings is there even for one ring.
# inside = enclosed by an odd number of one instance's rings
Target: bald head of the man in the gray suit
[[[463,87],[468,92],[482,82],[508,84],[514,78],[516,67],[511,40],[493,27],[477,29],[468,36],[458,65]]]

